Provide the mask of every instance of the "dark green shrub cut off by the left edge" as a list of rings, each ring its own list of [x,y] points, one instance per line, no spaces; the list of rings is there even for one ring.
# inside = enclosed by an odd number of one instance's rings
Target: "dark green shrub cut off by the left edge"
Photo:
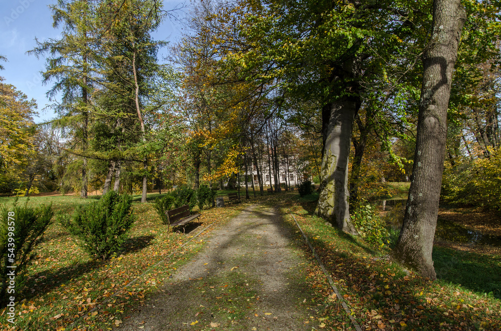
[[[7,299],[7,276],[11,268],[7,265],[16,265],[16,285],[21,286],[24,272],[30,259],[32,250],[42,240],[44,231],[51,223],[54,216],[52,206],[37,208],[14,206],[0,209],[0,270],[2,276],[2,290],[0,297]],[[13,239],[11,239],[13,238]],[[15,263],[9,261],[14,258]],[[6,305],[2,301],[2,306]]]

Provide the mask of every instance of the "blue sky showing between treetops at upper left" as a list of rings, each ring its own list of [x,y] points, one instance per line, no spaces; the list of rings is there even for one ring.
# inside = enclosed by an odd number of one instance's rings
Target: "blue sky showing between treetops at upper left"
[[[48,7],[53,3],[57,3],[57,0],[0,1],[0,54],[8,59],[8,62],[2,63],[5,70],[0,71],[0,76],[5,77],[5,83],[13,84],[28,98],[37,100],[39,116],[34,118],[37,123],[47,121],[55,114],[52,109],[46,108],[51,103],[46,97],[50,86],[42,84],[40,73],[45,69],[45,58],[37,59],[35,55],[26,54],[26,51],[36,47],[35,37],[41,41],[59,37],[59,31],[52,27],[52,12]],[[172,9],[180,3],[180,0],[164,0],[164,9]],[[177,10],[174,14],[182,18],[187,10]],[[153,33],[153,37],[173,42],[180,31],[181,23],[178,20],[166,19]],[[161,62],[166,51],[162,49],[159,52],[158,59]]]

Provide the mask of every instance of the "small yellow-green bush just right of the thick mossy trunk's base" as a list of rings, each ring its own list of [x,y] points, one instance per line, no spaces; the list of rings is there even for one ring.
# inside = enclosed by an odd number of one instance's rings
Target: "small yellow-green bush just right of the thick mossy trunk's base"
[[[383,239],[387,238],[389,233],[376,208],[366,201],[361,201],[351,213],[351,218],[365,241],[378,248],[384,246]],[[385,241],[389,243],[388,240]]]

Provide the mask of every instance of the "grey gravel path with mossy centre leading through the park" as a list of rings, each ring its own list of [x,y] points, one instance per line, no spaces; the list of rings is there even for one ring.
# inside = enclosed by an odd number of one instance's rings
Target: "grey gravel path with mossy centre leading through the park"
[[[296,236],[297,237],[297,236]],[[246,207],[212,229],[207,246],[176,270],[125,330],[312,330],[317,305],[309,263],[278,212]]]

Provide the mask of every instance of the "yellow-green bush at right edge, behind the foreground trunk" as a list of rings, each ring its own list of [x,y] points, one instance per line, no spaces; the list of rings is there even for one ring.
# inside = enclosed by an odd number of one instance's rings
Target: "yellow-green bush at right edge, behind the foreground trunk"
[[[474,205],[501,213],[501,153],[447,166],[441,198],[447,203]]]

